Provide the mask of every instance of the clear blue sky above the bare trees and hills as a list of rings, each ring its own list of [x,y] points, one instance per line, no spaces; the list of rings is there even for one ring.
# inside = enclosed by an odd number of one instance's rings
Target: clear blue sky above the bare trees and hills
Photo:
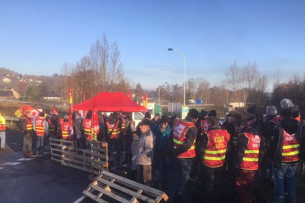
[[[269,79],[305,73],[304,1],[4,1],[0,67],[21,74],[60,73],[105,34],[125,75],[144,89],[202,77],[225,80],[237,62],[256,61]]]

